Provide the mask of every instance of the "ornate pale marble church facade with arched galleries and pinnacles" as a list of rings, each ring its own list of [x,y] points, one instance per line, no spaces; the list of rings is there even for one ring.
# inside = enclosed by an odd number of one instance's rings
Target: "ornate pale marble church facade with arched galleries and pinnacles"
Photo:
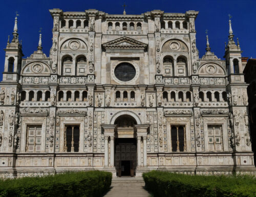
[[[52,9],[50,55],[23,58],[17,18],[0,83],[0,177],[106,170],[255,174],[247,84],[229,20],[199,58],[197,11]]]

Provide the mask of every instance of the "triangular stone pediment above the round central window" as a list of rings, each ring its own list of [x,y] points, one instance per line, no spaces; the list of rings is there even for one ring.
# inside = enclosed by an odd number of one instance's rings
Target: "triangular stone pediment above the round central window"
[[[147,45],[138,40],[123,36],[103,43],[102,47],[105,49],[145,49]]]

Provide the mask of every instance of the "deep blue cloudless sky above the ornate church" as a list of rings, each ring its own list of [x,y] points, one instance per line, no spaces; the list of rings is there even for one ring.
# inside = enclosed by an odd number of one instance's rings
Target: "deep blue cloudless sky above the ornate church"
[[[205,53],[205,30],[208,29],[211,51],[223,59],[224,42],[228,40],[228,14],[232,15],[234,37],[239,37],[242,56],[256,58],[256,0],[2,0],[0,2],[0,72],[4,70],[5,51],[8,35],[12,38],[15,12],[18,11],[18,33],[22,39],[24,57],[30,56],[37,47],[39,28],[42,28],[42,47],[49,55],[52,45],[53,21],[49,9],[63,11],[84,11],[97,9],[109,14],[122,14],[122,5],[127,5],[127,14],[141,14],[151,10],[185,13],[199,11],[196,19],[197,48],[200,57]],[[2,80],[2,74],[0,79]]]

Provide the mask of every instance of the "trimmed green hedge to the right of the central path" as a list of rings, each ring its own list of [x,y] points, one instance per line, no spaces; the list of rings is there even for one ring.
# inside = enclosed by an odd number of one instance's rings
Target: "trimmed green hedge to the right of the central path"
[[[155,197],[170,196],[256,196],[256,178],[252,176],[191,176],[151,171],[143,174],[145,188]]]

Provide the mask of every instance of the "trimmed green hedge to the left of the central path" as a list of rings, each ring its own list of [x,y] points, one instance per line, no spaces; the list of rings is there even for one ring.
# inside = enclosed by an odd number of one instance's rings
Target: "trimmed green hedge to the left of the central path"
[[[111,172],[68,172],[46,177],[26,177],[0,181],[0,196],[98,197],[109,190]]]

